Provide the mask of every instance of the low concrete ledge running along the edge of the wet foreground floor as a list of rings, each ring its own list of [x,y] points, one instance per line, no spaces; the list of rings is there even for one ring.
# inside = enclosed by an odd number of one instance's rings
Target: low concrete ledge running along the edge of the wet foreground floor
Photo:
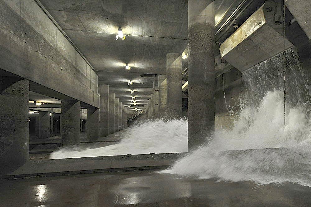
[[[12,173],[0,175],[0,179],[164,168],[173,164],[175,160],[184,154],[165,153],[28,160],[26,164]]]

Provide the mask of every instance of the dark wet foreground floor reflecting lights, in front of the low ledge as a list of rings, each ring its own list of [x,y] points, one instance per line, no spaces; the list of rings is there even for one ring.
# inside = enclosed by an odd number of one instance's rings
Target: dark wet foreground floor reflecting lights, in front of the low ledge
[[[2,207],[310,207],[311,188],[180,178],[156,171],[0,181]]]

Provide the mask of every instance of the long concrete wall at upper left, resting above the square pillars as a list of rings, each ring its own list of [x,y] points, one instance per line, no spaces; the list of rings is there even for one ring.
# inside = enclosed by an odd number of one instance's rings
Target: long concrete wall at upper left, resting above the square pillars
[[[97,74],[34,0],[0,0],[0,26],[1,69],[99,107]]]

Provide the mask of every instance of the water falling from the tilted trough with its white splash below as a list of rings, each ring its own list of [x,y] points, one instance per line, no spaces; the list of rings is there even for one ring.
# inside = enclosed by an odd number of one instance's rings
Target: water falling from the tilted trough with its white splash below
[[[234,127],[216,131],[209,143],[161,173],[311,187],[310,87],[296,51],[246,70],[243,78],[246,88]]]

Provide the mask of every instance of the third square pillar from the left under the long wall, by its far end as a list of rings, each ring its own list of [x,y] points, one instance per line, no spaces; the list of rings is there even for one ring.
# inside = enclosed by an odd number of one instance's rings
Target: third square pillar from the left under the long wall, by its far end
[[[86,139],[93,142],[99,138],[99,114],[100,109],[89,106],[86,111]]]

